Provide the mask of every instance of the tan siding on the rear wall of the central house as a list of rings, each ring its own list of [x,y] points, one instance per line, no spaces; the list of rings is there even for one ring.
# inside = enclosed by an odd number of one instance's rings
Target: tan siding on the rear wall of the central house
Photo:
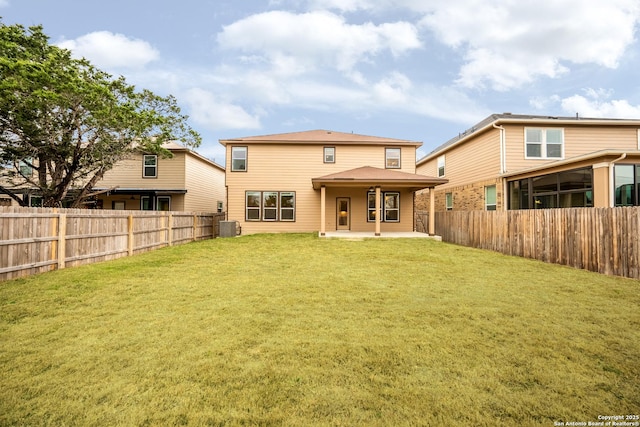
[[[243,234],[258,232],[309,232],[320,229],[320,191],[313,190],[312,178],[329,175],[361,166],[385,167],[384,146],[336,146],[336,162],[323,162],[323,145],[251,145],[247,150],[247,172],[231,172],[231,145],[227,146],[227,177],[228,187],[228,218],[238,220],[242,225]],[[326,146],[334,146],[327,144]],[[401,166],[403,172],[415,171],[415,147],[402,147]],[[296,221],[295,222],[246,222],[245,219],[245,192],[246,191],[295,191],[296,193]],[[332,190],[333,191],[333,190]],[[366,218],[364,199],[366,192],[345,189],[341,194],[352,197],[352,210],[363,210]],[[351,196],[350,196],[351,194]],[[335,218],[331,212],[335,212],[335,194],[333,201],[327,197],[327,220]],[[361,199],[361,201],[358,201]],[[410,202],[407,200],[410,199]],[[333,203],[333,205],[330,205]],[[359,207],[357,203],[361,203]],[[411,197],[401,196],[401,203],[407,209],[401,208],[403,224],[407,227],[413,223],[413,200]],[[332,207],[331,207],[332,206]],[[408,213],[407,213],[408,212]],[[411,216],[410,220],[405,218]],[[354,223],[355,224],[355,223]],[[388,224],[390,227],[400,227],[397,224]],[[412,225],[409,225],[412,227]],[[360,225],[358,225],[360,227]],[[383,227],[384,229],[384,227]]]

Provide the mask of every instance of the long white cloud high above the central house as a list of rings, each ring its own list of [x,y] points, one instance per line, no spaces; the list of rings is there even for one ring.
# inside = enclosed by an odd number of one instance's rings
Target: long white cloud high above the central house
[[[262,55],[290,75],[319,66],[349,72],[385,51],[399,56],[421,47],[418,30],[410,23],[352,25],[323,11],[252,15],[225,26],[218,43],[224,49]]]

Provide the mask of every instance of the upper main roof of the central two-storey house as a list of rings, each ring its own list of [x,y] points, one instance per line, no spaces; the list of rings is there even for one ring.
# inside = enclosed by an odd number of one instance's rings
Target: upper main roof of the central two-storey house
[[[344,145],[415,145],[422,142],[406,139],[383,138],[379,136],[359,135],[356,133],[335,132],[318,129],[304,132],[280,133],[274,135],[248,136],[243,138],[221,139],[220,144],[226,146],[233,143],[260,144],[344,144]]]

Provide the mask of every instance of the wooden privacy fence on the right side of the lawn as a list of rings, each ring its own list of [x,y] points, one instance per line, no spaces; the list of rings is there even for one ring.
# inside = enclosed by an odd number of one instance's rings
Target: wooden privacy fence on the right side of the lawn
[[[640,207],[449,211],[435,222],[445,242],[640,279]]]

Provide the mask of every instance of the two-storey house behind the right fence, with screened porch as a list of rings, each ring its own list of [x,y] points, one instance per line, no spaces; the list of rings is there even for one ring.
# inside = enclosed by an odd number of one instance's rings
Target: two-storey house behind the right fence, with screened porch
[[[639,150],[640,120],[493,114],[416,170],[448,179],[436,211],[634,206]]]

